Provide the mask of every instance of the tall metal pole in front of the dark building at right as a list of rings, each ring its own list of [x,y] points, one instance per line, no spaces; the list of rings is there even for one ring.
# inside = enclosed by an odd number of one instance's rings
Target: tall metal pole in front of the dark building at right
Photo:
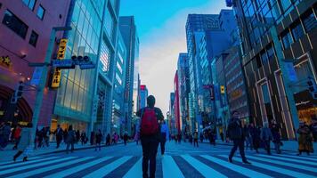
[[[293,123],[294,136],[295,136],[295,139],[297,139],[296,129],[299,126],[299,118],[297,115],[297,107],[296,107],[296,102],[294,99],[294,93],[292,92],[292,90],[289,87],[289,85],[290,85],[289,72],[286,69],[286,65],[285,65],[285,61],[284,61],[285,59],[284,59],[283,54],[282,54],[282,47],[280,44],[277,29],[274,25],[270,28],[270,32],[272,35],[272,40],[273,40],[274,48],[276,51],[276,56],[277,56],[277,59],[278,59],[279,64],[280,64],[281,77],[283,79],[283,85],[285,86],[284,87],[285,93],[286,93],[287,99],[289,101],[290,114],[291,114],[291,117],[293,118],[292,123]]]

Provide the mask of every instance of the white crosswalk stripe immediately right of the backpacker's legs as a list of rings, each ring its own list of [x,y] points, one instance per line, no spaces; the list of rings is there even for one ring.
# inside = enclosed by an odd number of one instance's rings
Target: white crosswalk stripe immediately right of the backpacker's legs
[[[183,178],[183,173],[171,156],[162,158],[163,177]]]

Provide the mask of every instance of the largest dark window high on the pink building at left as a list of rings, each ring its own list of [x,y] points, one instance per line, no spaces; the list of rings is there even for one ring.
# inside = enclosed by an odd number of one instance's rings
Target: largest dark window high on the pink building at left
[[[4,20],[2,21],[2,23],[6,27],[12,29],[12,31],[21,36],[23,39],[28,33],[28,26],[8,10],[4,12]]]

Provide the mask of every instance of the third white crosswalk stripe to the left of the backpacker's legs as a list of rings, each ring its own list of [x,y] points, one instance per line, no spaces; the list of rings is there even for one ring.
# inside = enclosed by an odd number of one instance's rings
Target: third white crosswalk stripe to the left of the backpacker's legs
[[[50,174],[48,176],[45,176],[45,178],[54,178],[54,177],[66,177],[70,174],[74,174],[74,173],[77,173],[79,171],[82,171],[88,167],[91,167],[91,166],[95,166],[99,163],[102,163],[103,161],[106,161],[108,159],[110,159],[112,157],[104,157],[104,158],[100,158],[100,159],[97,159],[97,160],[94,160],[92,162],[89,162],[89,163],[86,163],[85,165],[80,165],[80,166],[76,166],[76,167],[73,167],[73,168],[70,168],[70,169],[66,169],[64,171],[61,171],[57,174]]]

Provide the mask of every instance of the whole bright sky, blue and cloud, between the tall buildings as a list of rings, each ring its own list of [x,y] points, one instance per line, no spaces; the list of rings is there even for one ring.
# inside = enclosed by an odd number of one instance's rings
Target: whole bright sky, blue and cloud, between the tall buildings
[[[120,15],[134,15],[140,38],[140,77],[164,113],[174,90],[178,53],[187,52],[189,13],[219,13],[224,0],[121,0]]]

